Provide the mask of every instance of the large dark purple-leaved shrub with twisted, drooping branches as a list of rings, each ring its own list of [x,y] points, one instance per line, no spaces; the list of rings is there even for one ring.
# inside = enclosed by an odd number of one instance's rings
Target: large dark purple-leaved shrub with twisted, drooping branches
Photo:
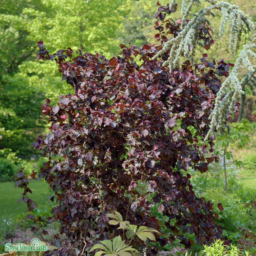
[[[187,171],[203,173],[218,161],[214,136],[203,140],[221,87],[219,76],[228,76],[232,64],[210,62],[203,54],[198,64],[187,60],[173,70],[163,65],[172,54],[162,50],[167,35],[177,37],[183,23],[165,20],[176,5],[158,5],[155,29],[160,45],[120,45],[120,56],[106,59],[81,51],[73,57],[71,48],[50,55],[38,42],[37,58],[55,60],[63,80],[74,87],[73,94],[59,96],[57,106],[46,98],[41,109],[50,131],[32,143],[48,157],[38,176],[56,193],[52,212],[74,249],[63,248],[58,255],[81,253],[84,244],[89,251],[98,240],[119,235],[120,230],[108,225],[106,214],[112,210],[131,224],[161,232],[163,224],[151,214],[151,207],[157,207],[169,217],[164,224],[172,233],[169,240],[179,238],[187,248],[193,241],[186,233],[194,233],[199,243],[221,238],[214,222],[218,215],[210,202],[195,195]],[[213,43],[209,31],[206,23],[200,24],[199,38],[206,49]],[[161,50],[161,57],[153,58]],[[238,106],[234,103],[234,110]],[[22,170],[16,185],[25,188],[20,200],[33,209]],[[167,243],[155,235],[162,245]]]

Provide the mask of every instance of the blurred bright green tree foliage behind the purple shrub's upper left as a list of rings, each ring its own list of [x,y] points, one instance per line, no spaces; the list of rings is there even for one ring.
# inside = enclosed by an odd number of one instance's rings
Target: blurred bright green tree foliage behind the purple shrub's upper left
[[[65,0],[61,8],[56,0],[0,1],[0,157],[10,153],[8,148],[20,157],[33,154],[31,139],[47,126],[39,113],[43,99],[71,92],[54,63],[35,58],[38,39],[45,38],[53,51],[70,46],[117,54],[120,42],[146,43],[141,34],[151,5],[141,1],[139,27],[134,22],[129,27],[138,6],[134,0]]]

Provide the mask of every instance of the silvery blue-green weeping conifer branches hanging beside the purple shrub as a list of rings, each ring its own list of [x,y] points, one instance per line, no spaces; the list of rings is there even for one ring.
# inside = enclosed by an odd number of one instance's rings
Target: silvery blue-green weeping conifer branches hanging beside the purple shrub
[[[199,38],[199,26],[206,23],[210,25],[210,20],[206,18],[206,15],[213,15],[214,10],[219,10],[222,13],[222,20],[219,27],[219,36],[222,37],[225,34],[225,26],[229,21],[230,27],[230,40],[229,40],[229,50],[233,56],[236,56],[241,42],[241,35],[243,33],[248,33],[249,31],[255,30],[255,24],[252,22],[251,18],[245,15],[241,10],[238,9],[236,5],[231,5],[225,1],[217,0],[205,0],[210,5],[200,10],[197,14],[193,14],[193,18],[187,23],[187,18],[191,7],[195,3],[200,3],[200,0],[183,0],[181,5],[181,31],[174,38],[167,41],[163,48],[154,56],[154,59],[161,57],[163,53],[169,50],[169,58],[163,63],[163,65],[168,65],[170,72],[180,65],[181,56],[184,56],[191,63],[194,61],[196,46],[204,46]],[[170,7],[174,6],[175,1],[172,0]],[[252,66],[249,61],[249,56],[256,59],[256,54],[253,50],[256,49],[256,45],[246,44],[240,51],[237,57],[236,63],[231,70],[229,76],[223,82],[221,89],[217,94],[215,101],[215,108],[213,109],[210,118],[210,130],[206,136],[209,138],[210,133],[217,131],[222,131],[225,126],[225,119],[227,114],[234,109],[234,104],[240,99],[240,117],[243,117],[244,106],[246,102],[245,87],[249,86],[253,92],[256,87],[256,65]],[[240,81],[238,78],[238,72],[245,66],[248,69],[248,74]]]

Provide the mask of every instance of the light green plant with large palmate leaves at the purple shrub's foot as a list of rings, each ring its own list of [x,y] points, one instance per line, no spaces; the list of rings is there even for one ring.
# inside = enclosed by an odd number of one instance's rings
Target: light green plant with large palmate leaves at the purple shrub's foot
[[[147,239],[155,241],[155,236],[151,232],[156,232],[157,234],[160,235],[160,233],[156,229],[153,229],[151,227],[140,226],[138,228],[137,225],[131,225],[129,221],[123,221],[122,215],[117,211],[114,211],[114,214],[109,213],[106,215],[110,218],[113,218],[112,220],[109,220],[110,225],[119,225],[117,229],[123,229],[123,240],[121,236],[117,236],[113,239],[113,241],[103,240],[101,241],[101,244],[95,244],[91,248],[90,252],[95,249],[101,249],[102,251],[96,252],[94,256],[100,256],[102,255],[102,253],[106,253],[106,256],[140,255],[138,250],[130,246],[135,236],[138,237],[140,240],[146,242]],[[125,230],[126,230],[125,235],[127,239],[125,239],[124,237]],[[128,244],[125,244],[126,240],[129,240]]]

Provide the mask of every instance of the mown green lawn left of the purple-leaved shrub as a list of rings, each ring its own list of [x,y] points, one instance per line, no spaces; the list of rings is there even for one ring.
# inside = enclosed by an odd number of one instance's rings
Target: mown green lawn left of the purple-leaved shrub
[[[22,197],[23,189],[14,188],[14,184],[15,182],[0,182],[0,217],[9,217],[12,214],[12,217],[16,217],[27,210],[26,203],[17,202]],[[29,188],[32,190],[32,194],[27,193],[27,195],[38,206],[44,205],[46,201],[49,201],[50,190],[46,181],[31,180]]]

